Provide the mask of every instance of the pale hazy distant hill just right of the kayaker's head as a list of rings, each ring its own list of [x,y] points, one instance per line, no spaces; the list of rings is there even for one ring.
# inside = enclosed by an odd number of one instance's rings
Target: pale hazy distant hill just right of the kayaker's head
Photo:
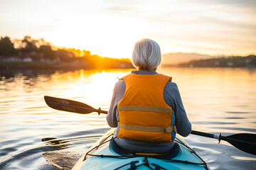
[[[191,60],[203,60],[203,59],[210,59],[217,56],[210,56],[210,55],[201,55],[196,53],[167,53],[162,55],[162,64],[179,64],[183,62],[190,62]],[[218,56],[220,57],[220,56]]]

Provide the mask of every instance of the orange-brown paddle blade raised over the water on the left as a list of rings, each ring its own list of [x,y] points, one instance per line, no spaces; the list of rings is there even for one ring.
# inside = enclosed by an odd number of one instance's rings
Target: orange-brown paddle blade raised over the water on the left
[[[64,98],[55,98],[50,96],[44,96],[47,105],[50,108],[54,108],[59,111],[68,111],[74,113],[87,114],[97,111],[91,106],[78,101],[72,101]]]

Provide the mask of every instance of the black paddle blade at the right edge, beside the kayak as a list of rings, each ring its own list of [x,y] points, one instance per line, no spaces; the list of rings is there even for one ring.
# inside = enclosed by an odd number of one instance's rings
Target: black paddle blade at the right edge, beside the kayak
[[[221,140],[229,142],[234,147],[247,152],[249,154],[256,155],[256,135],[249,133],[239,133],[230,135],[228,137],[221,137]]]

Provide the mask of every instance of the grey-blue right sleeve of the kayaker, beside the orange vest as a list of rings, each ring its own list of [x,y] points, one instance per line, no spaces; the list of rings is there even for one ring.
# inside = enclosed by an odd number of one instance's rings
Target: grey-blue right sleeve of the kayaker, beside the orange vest
[[[176,130],[179,135],[186,137],[191,133],[191,123],[186,115],[178,86],[174,82],[166,84],[164,101],[174,110]]]

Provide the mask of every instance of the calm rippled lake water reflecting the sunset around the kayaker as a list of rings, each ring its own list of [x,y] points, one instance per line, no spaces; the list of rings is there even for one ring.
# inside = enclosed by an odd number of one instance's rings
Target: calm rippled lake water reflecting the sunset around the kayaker
[[[117,77],[130,71],[0,71],[0,169],[71,169],[110,128],[105,115],[55,111],[43,96],[107,110]],[[256,134],[256,69],[162,68],[159,73],[174,77],[193,130]],[[254,155],[227,142],[195,135],[186,141],[210,169],[256,167]]]

